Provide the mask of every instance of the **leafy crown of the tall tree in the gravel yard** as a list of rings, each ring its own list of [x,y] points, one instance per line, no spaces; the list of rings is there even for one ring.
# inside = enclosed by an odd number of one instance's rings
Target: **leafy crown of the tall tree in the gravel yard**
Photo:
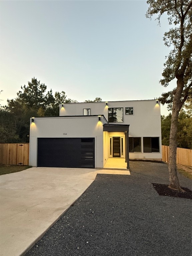
[[[169,24],[172,26],[164,33],[163,41],[171,50],[166,56],[161,85],[167,87],[173,79],[181,84],[179,108],[190,95],[192,96],[192,1],[189,0],[148,0],[149,8],[147,18],[157,15],[160,18],[164,13],[168,15]],[[159,98],[162,104],[167,103],[172,109],[174,95],[177,87]]]

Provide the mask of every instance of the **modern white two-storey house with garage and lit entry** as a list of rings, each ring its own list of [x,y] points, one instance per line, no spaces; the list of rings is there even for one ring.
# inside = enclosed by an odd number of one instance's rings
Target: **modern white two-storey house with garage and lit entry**
[[[109,158],[162,160],[157,100],[60,104],[59,116],[33,117],[29,165],[104,168]]]

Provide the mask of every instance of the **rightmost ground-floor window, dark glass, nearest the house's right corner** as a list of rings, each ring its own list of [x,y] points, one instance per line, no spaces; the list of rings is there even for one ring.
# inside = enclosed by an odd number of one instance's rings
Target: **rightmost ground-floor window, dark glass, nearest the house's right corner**
[[[143,152],[152,153],[159,151],[159,137],[143,137]]]

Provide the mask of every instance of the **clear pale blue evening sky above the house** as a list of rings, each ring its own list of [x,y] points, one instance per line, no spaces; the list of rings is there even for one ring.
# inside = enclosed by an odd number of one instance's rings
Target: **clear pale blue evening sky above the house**
[[[159,84],[168,21],[158,26],[147,8],[144,0],[0,1],[0,104],[32,77],[78,102],[147,100],[171,90],[175,82]]]

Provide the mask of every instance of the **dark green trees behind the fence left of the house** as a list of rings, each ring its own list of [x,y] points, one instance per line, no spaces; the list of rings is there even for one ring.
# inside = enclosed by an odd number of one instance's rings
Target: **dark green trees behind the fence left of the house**
[[[52,90],[32,78],[28,85],[21,86],[15,99],[7,100],[7,106],[0,107],[0,143],[29,142],[30,117],[58,116],[59,103],[76,102],[67,99],[65,92]]]

